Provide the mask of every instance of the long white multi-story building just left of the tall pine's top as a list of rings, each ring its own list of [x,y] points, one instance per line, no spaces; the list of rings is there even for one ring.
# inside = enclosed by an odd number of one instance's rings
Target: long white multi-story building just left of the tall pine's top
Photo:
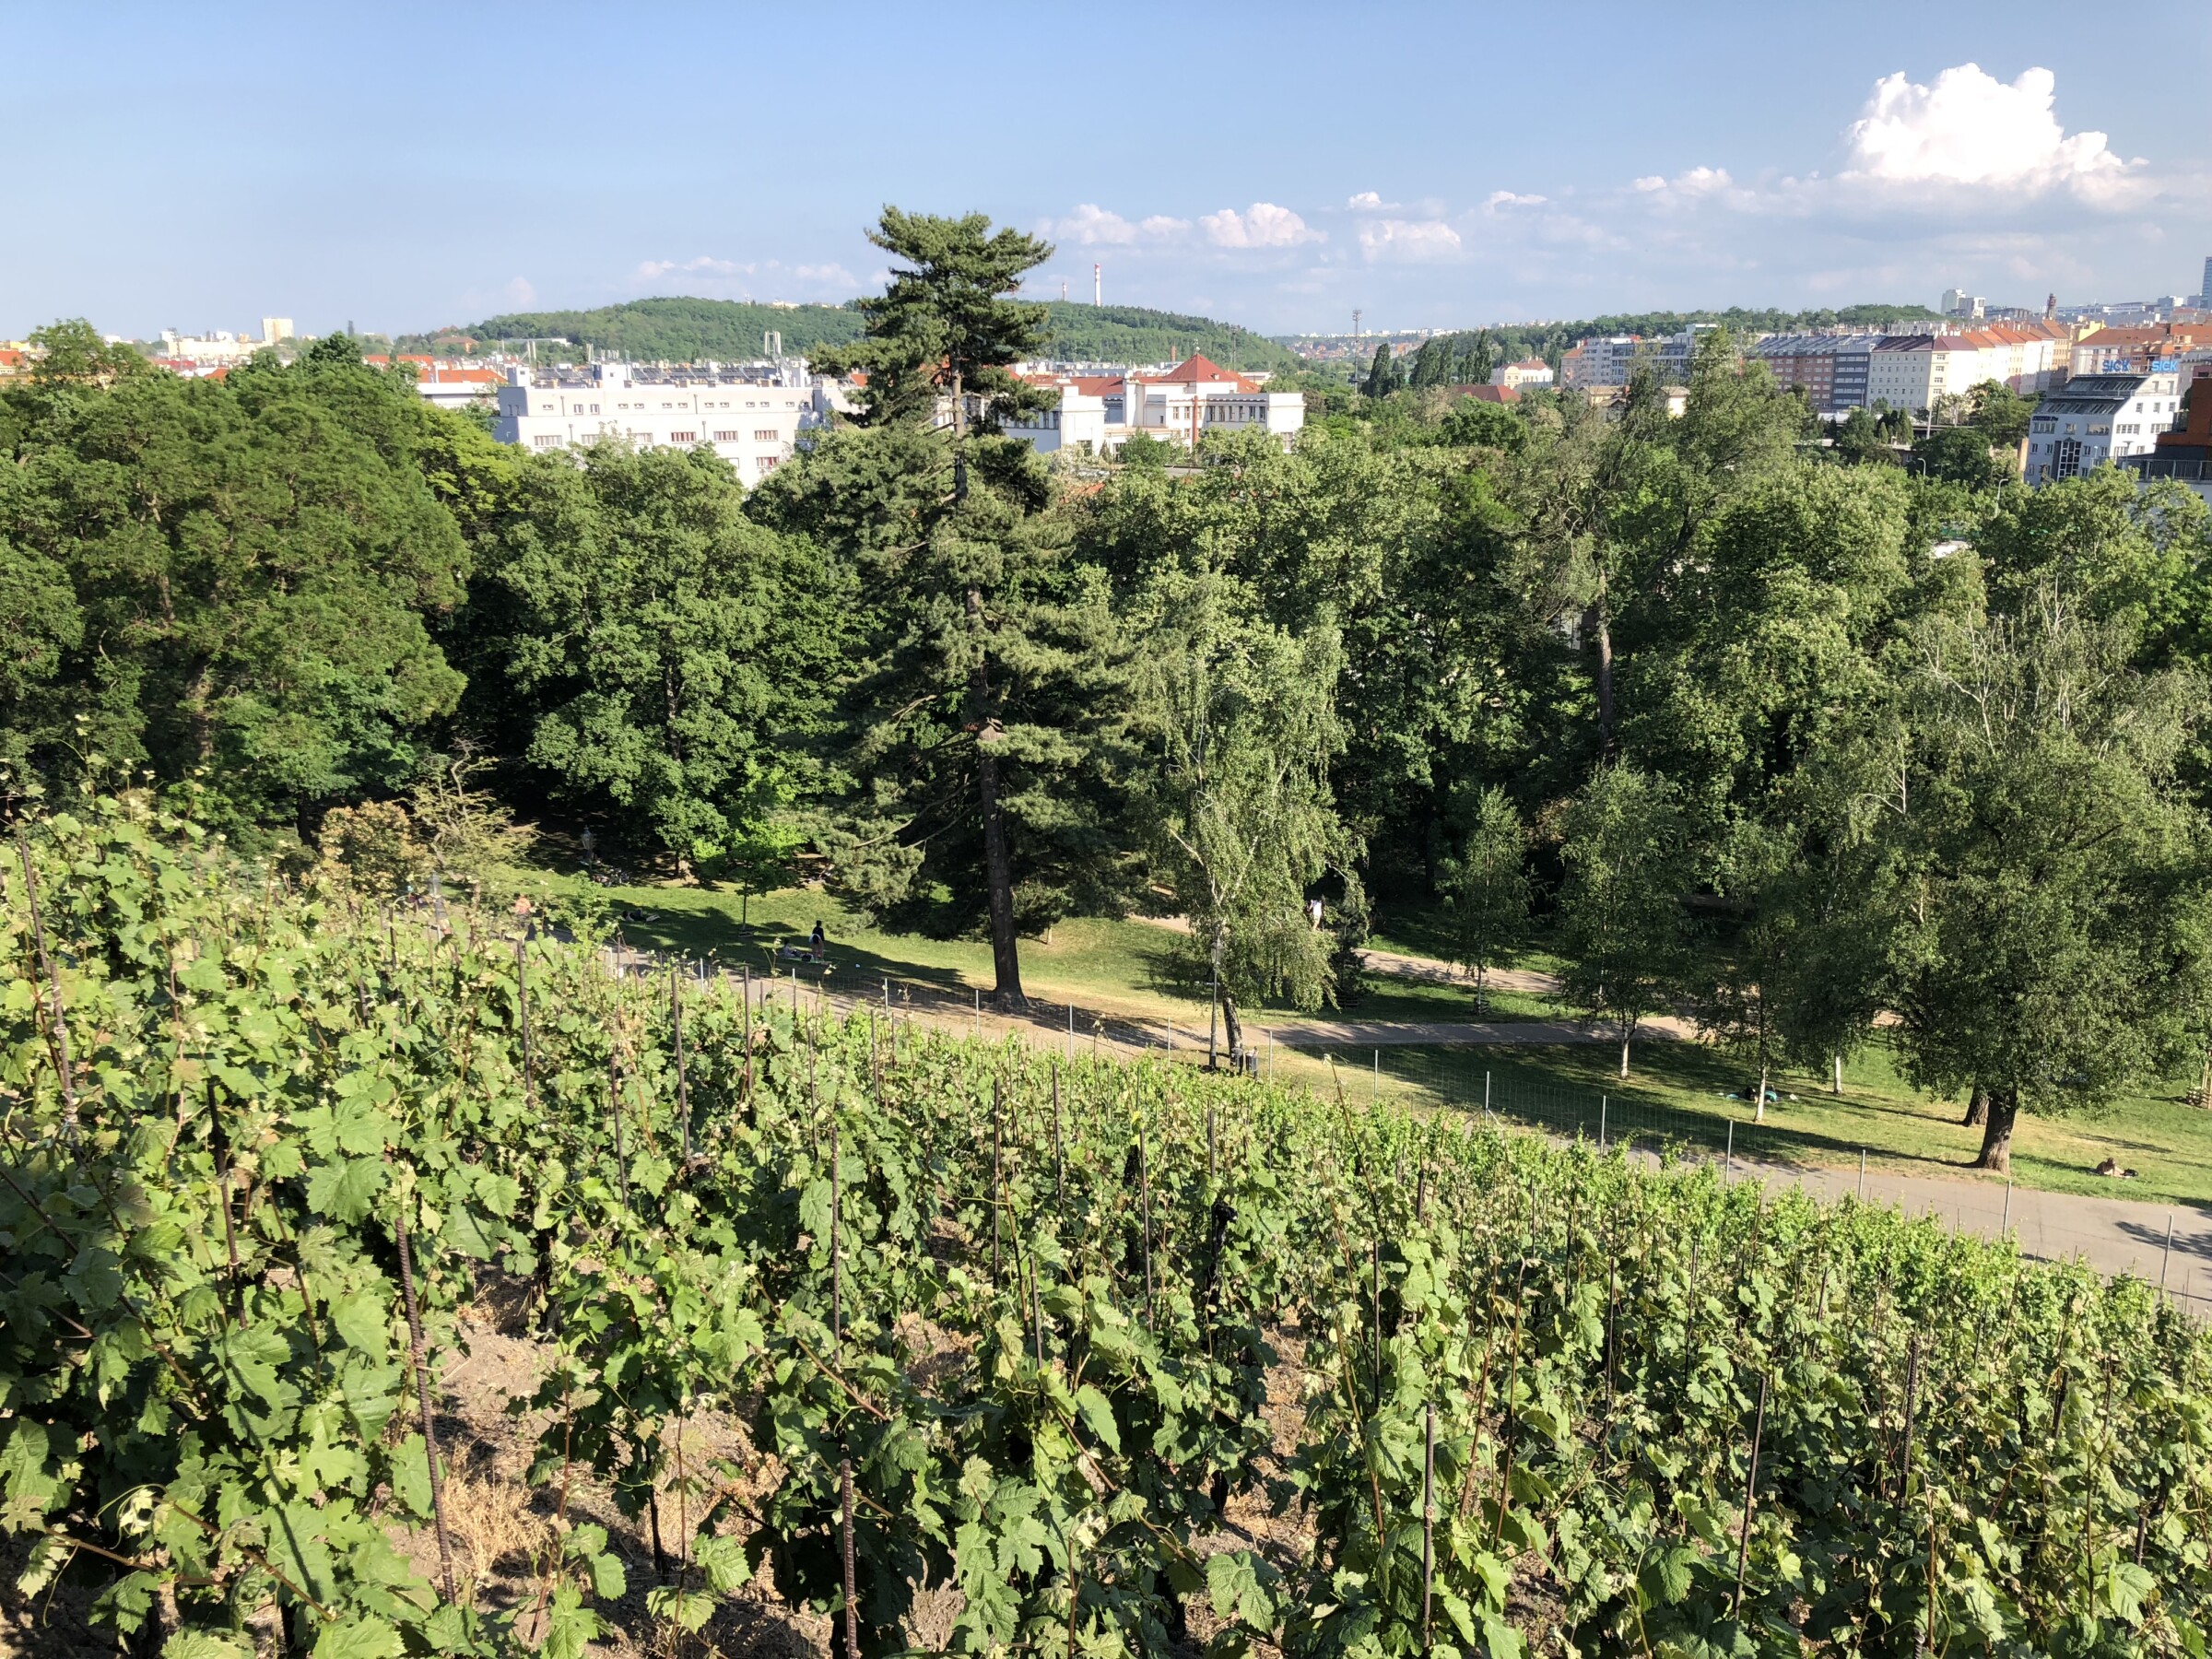
[[[515,365],[500,387],[491,434],[522,449],[571,449],[597,438],[641,449],[712,447],[757,484],[792,458],[801,429],[823,425],[827,409],[827,387],[805,363]]]

